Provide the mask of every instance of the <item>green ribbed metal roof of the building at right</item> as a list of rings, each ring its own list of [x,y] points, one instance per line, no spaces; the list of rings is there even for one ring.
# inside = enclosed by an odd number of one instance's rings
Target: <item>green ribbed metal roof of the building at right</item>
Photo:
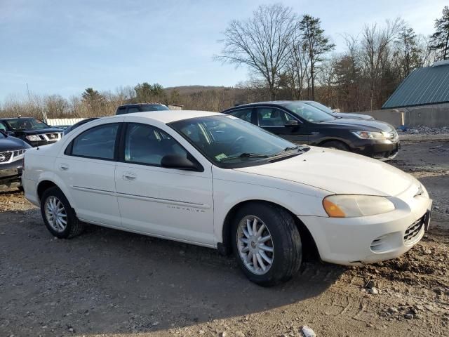
[[[449,103],[449,62],[415,69],[396,88],[382,109]]]

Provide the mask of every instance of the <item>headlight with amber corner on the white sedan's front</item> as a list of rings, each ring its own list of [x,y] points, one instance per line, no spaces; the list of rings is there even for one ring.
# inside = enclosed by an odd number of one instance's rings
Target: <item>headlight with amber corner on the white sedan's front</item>
[[[373,195],[330,195],[323,199],[323,207],[332,218],[374,216],[394,211],[394,204],[389,199]]]

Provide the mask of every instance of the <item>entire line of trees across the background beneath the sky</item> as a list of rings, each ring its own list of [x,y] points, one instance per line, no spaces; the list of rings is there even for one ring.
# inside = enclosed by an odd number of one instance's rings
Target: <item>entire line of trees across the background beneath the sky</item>
[[[144,82],[99,92],[86,88],[69,99],[60,95],[10,96],[0,106],[3,117],[101,117],[127,103],[171,103],[186,110],[221,111],[260,100],[318,100],[342,111],[379,109],[398,84],[418,67],[449,59],[449,7],[434,22],[431,36],[416,34],[400,18],[364,25],[344,34],[344,48],[326,35],[320,18],[297,15],[281,4],[259,6],[250,18],[233,20],[215,55],[249,70],[234,88],[181,92]]]

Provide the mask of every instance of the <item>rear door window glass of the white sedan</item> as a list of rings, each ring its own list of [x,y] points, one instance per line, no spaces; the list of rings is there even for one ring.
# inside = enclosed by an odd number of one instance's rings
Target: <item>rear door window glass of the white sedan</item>
[[[90,128],[69,145],[69,155],[93,159],[114,159],[119,124],[105,124]],[[67,152],[66,150],[66,152]]]

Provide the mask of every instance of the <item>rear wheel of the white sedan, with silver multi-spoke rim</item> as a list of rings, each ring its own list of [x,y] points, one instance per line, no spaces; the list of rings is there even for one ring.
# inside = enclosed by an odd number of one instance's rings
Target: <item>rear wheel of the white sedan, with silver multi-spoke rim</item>
[[[58,210],[59,216],[55,216],[52,209]],[[64,193],[56,186],[50,187],[43,192],[41,197],[41,215],[43,223],[55,237],[69,239],[83,232],[84,224],[76,218],[75,211],[70,206]]]

